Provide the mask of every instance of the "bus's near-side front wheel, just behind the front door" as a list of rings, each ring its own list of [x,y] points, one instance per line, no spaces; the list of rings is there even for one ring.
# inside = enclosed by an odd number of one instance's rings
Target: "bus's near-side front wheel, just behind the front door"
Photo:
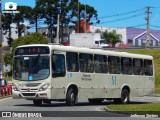
[[[74,91],[73,88],[70,88],[67,92],[66,96],[66,104],[69,106],[73,106],[76,103],[76,92]]]

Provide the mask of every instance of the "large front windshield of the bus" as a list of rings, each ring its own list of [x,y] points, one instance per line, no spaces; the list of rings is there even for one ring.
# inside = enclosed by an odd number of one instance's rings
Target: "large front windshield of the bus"
[[[18,56],[14,58],[13,78],[42,80],[49,76],[49,56]]]

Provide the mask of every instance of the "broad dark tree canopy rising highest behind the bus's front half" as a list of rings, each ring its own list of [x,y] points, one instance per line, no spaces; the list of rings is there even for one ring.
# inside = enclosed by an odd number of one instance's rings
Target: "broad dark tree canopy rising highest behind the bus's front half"
[[[50,38],[55,36],[58,14],[60,15],[60,33],[63,35],[63,27],[78,21],[78,0],[36,0],[36,6],[40,18],[45,18],[45,23],[51,33]],[[79,3],[79,19],[85,17],[85,5]],[[94,7],[86,5],[86,18],[88,21],[97,19],[97,11]],[[56,26],[57,27],[57,26]],[[53,41],[51,41],[53,42]]]

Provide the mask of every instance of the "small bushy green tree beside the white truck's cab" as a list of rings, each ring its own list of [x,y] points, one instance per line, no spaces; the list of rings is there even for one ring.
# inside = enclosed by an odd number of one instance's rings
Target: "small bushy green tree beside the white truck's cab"
[[[107,43],[111,43],[113,47],[116,43],[122,42],[122,35],[117,34],[115,30],[108,32],[107,30],[102,33],[102,38],[107,41]]]

